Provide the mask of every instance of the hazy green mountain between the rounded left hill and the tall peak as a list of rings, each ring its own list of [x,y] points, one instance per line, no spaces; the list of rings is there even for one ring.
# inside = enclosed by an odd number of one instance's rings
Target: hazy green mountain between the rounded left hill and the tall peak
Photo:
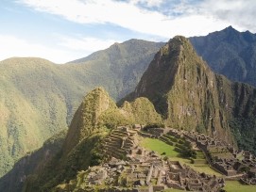
[[[148,63],[163,44],[145,40],[114,43],[109,49],[70,62],[70,69],[76,66],[73,70],[75,75],[88,79],[90,89],[103,86],[111,97],[118,100],[135,88]]]

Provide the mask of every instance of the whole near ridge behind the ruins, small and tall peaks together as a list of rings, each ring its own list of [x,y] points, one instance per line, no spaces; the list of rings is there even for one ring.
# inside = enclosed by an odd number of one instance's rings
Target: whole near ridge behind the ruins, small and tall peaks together
[[[83,99],[60,153],[31,170],[24,191],[49,191],[104,160],[102,139],[121,124],[162,123],[256,149],[256,89],[215,74],[189,40],[175,37],[154,56],[133,92],[117,107],[103,88]],[[250,149],[249,149],[250,148]],[[255,151],[254,151],[255,152]]]

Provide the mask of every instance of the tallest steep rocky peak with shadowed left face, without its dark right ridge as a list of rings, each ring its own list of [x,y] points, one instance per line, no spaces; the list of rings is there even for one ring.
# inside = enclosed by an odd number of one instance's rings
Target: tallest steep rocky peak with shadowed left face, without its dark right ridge
[[[230,139],[223,131],[227,125],[221,124],[226,117],[219,105],[217,84],[218,77],[196,55],[191,42],[176,36],[160,49],[128,100],[148,98],[167,126],[204,127],[209,135],[217,133]]]

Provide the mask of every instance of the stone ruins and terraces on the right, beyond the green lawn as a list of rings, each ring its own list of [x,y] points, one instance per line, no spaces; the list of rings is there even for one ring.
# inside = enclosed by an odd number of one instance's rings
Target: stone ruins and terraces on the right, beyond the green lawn
[[[201,162],[208,162],[210,167],[226,175],[229,179],[241,179],[245,184],[254,184],[256,178],[256,157],[250,152],[236,151],[234,148],[215,136],[206,136],[194,131],[185,131],[168,128],[168,133],[163,131],[157,135],[154,132],[145,133],[147,137],[157,137],[169,145],[176,145],[175,138],[185,138],[196,152],[204,153],[205,159]],[[248,169],[247,173],[244,171]],[[254,174],[255,173],[255,174]]]

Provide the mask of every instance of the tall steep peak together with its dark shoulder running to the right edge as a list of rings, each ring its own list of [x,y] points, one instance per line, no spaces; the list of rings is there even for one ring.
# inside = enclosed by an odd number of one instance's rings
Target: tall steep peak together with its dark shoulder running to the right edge
[[[189,40],[175,37],[157,53],[135,91],[126,99],[148,98],[168,126],[233,142],[234,130],[238,132],[237,139],[247,135],[247,130],[251,133],[255,129],[234,128],[231,123],[237,122],[236,119],[254,120],[255,92],[255,88],[246,84],[231,83],[226,77],[214,74],[196,55]],[[255,148],[255,134],[250,138]],[[240,139],[245,142],[247,138]]]

